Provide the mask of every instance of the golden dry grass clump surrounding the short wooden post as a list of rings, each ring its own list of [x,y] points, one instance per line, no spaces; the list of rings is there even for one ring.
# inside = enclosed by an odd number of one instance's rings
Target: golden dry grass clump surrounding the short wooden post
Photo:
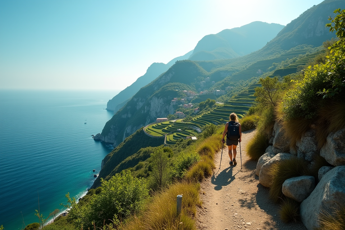
[[[123,230],[195,230],[193,216],[196,206],[201,206],[199,184],[177,183],[165,191],[155,194],[140,217],[133,217]],[[176,196],[183,195],[182,212],[176,217]]]

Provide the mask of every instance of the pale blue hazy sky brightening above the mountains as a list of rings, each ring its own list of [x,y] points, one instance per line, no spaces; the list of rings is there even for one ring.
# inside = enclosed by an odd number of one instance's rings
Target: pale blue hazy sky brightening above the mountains
[[[0,0],[0,88],[122,90],[207,34],[286,25],[320,2]]]

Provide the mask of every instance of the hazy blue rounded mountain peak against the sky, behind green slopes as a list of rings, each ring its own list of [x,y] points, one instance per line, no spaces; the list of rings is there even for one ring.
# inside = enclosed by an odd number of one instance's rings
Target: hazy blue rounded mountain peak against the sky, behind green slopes
[[[256,51],[272,40],[284,26],[255,21],[203,37],[189,60],[229,59]]]

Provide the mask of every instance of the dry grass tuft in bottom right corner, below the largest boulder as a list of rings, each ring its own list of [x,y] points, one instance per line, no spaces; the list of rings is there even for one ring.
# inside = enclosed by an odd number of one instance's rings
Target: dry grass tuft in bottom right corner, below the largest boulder
[[[344,230],[345,229],[345,206],[344,204],[332,214],[322,213],[318,215],[320,225],[315,230]]]

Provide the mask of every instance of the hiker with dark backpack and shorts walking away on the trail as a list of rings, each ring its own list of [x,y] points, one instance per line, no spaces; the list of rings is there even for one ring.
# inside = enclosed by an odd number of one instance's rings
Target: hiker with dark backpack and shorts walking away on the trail
[[[229,158],[230,158],[230,165],[237,164],[236,162],[236,147],[238,145],[238,141],[241,142],[242,138],[242,132],[241,132],[241,124],[238,123],[237,115],[236,113],[230,114],[230,121],[226,122],[225,129],[223,132],[223,138],[221,139],[221,142],[224,143],[224,137],[226,135],[226,145],[229,149]],[[234,152],[234,158],[233,153]],[[233,159],[233,160],[231,160]]]

